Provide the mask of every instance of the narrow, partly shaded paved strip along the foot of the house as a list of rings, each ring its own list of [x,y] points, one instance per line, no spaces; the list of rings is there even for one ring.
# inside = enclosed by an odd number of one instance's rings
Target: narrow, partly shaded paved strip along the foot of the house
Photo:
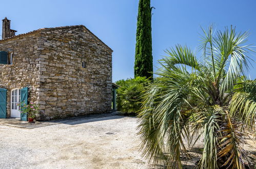
[[[14,126],[17,128],[34,129],[34,128],[40,128],[43,126],[54,125],[54,124],[75,125],[75,124],[82,124],[82,123],[88,123],[93,121],[118,119],[123,117],[125,116],[121,116],[119,112],[111,112],[111,113],[101,113],[101,114],[90,114],[90,115],[72,117],[67,119],[36,121],[34,123],[28,123],[27,121],[21,121],[19,119],[9,118],[9,119],[0,119],[0,125]]]

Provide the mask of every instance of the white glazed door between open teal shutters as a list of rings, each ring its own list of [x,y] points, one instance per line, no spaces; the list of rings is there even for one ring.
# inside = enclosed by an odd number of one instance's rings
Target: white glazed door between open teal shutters
[[[21,112],[18,110],[19,100],[21,100],[21,90],[13,89],[11,91],[11,117],[21,118]]]

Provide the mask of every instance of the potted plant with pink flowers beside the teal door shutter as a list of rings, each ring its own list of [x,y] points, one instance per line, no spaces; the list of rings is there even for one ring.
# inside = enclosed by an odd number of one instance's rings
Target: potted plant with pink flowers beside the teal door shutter
[[[17,105],[19,106],[19,111],[21,111],[22,114],[27,114],[28,122],[34,122],[35,115],[38,112],[39,105],[33,102],[30,102],[28,104],[21,102]]]

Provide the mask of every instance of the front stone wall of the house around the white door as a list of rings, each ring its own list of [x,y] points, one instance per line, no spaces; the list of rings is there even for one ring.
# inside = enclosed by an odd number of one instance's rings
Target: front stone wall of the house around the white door
[[[11,90],[29,87],[29,100],[36,101],[40,34],[0,40],[0,51],[13,52],[13,64],[0,64],[0,88],[7,89],[7,117],[11,114]]]

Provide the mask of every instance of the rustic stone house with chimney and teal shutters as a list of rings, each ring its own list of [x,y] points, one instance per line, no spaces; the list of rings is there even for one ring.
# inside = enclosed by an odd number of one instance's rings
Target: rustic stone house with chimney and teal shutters
[[[112,50],[85,26],[15,32],[3,19],[0,118],[21,117],[27,100],[40,104],[40,120],[112,110]]]

